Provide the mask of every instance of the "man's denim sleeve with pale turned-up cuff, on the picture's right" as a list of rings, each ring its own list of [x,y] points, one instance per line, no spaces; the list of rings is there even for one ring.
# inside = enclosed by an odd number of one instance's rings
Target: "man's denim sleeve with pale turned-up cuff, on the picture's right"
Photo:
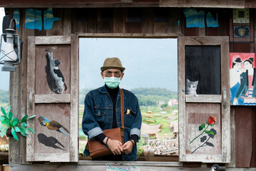
[[[137,135],[140,139],[140,135],[141,135],[141,127],[142,127],[142,113],[140,113],[140,109],[139,109],[139,102],[138,99],[136,98],[136,116],[134,119],[134,123],[132,123],[132,129],[130,130],[130,136],[132,135]]]

